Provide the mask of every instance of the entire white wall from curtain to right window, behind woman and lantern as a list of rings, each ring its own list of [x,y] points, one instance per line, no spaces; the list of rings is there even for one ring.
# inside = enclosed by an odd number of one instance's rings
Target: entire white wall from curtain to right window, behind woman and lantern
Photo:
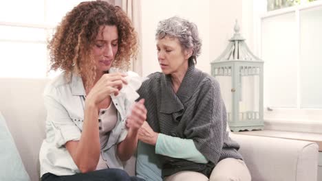
[[[142,75],[160,71],[155,48],[155,29],[158,22],[171,16],[193,21],[202,38],[202,54],[197,68],[210,73],[215,60],[233,37],[235,20],[241,34],[253,51],[253,0],[141,0],[142,3]]]

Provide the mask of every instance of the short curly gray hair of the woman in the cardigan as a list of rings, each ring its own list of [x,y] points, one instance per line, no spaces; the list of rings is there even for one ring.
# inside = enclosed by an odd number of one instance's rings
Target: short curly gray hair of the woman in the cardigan
[[[155,33],[155,39],[178,38],[183,49],[192,49],[193,54],[189,61],[194,60],[197,63],[197,57],[200,56],[202,40],[199,38],[197,25],[178,16],[160,21]]]

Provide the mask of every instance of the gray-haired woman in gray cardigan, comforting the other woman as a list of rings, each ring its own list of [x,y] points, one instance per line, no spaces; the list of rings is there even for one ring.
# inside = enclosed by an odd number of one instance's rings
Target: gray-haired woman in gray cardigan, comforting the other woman
[[[139,130],[138,176],[250,180],[239,145],[226,132],[219,84],[195,68],[202,46],[196,25],[171,17],[160,21],[155,38],[162,73],[149,75],[139,90],[148,113]]]

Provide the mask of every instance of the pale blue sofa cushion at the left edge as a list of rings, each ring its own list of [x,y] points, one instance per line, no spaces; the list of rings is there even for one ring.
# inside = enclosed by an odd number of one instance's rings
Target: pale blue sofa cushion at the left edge
[[[30,180],[0,112],[0,180]]]

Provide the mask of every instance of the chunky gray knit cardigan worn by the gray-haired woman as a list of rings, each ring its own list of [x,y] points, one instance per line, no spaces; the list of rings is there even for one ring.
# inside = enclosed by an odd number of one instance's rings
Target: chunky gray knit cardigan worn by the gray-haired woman
[[[145,99],[147,122],[155,132],[193,139],[197,149],[209,160],[207,164],[160,156],[162,176],[178,171],[199,171],[209,176],[219,160],[242,159],[239,145],[226,132],[226,108],[218,82],[195,69],[193,62],[184,75],[177,93],[171,86],[171,75],[153,73],[138,90]]]

